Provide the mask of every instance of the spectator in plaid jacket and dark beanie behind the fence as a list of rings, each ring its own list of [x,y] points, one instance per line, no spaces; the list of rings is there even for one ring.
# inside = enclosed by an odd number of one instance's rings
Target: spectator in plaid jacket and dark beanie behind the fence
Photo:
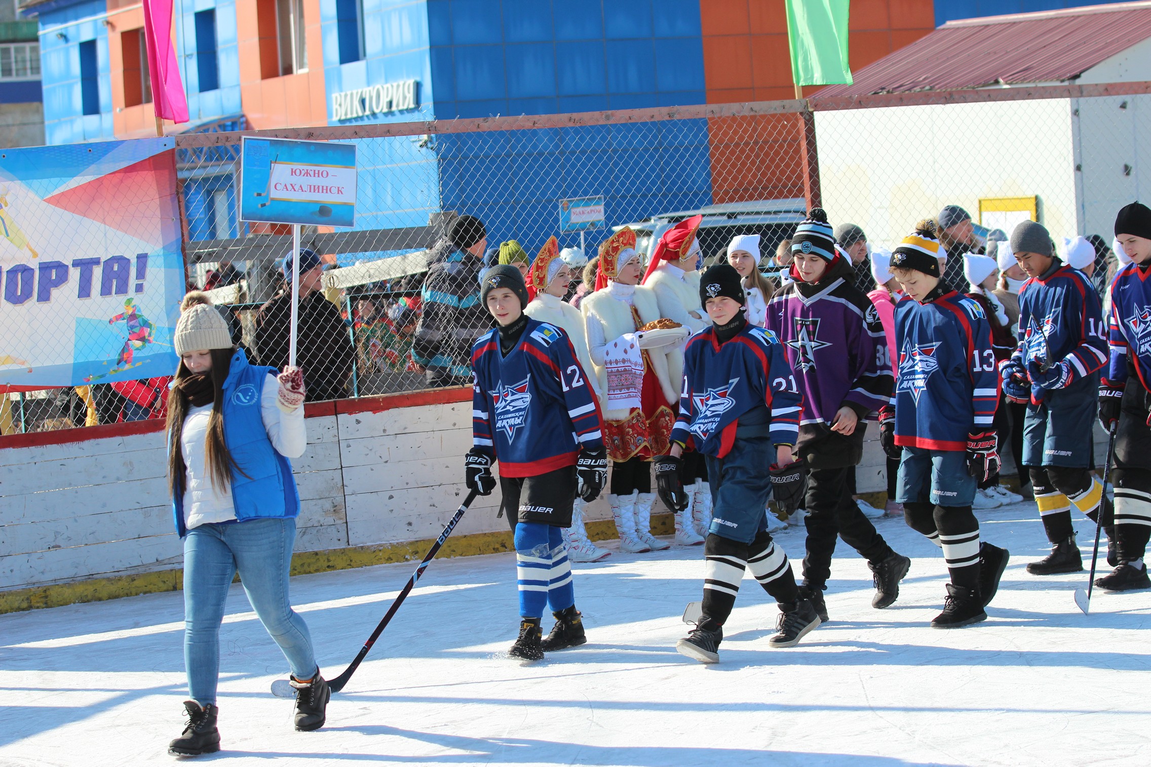
[[[428,258],[421,290],[422,314],[412,356],[429,386],[465,386],[472,376],[472,344],[491,324],[480,304],[480,271],[488,231],[475,216],[451,227],[450,245]]]

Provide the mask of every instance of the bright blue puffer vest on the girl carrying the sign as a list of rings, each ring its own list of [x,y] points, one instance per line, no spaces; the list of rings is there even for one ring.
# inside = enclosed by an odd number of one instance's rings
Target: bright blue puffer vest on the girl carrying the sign
[[[275,368],[249,365],[244,350],[236,350],[223,382],[223,440],[239,468],[231,473],[231,501],[239,521],[299,514],[291,463],[272,446],[260,417],[260,396],[269,375]],[[171,509],[183,538],[188,534],[183,497],[171,499]]]

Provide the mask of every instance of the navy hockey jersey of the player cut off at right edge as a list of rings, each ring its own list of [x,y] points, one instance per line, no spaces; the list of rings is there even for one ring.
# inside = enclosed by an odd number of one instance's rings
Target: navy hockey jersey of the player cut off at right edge
[[[1111,365],[1105,376],[1107,385],[1127,382],[1127,362],[1144,389],[1151,390],[1151,263],[1139,268],[1129,263],[1111,283],[1110,346]]]

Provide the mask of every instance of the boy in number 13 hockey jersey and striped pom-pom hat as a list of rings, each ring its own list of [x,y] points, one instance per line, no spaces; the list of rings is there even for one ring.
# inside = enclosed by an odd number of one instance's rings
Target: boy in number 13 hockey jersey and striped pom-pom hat
[[[1007,551],[980,544],[976,484],[999,471],[992,420],[999,401],[991,328],[983,309],[942,282],[935,225],[924,222],[891,256],[904,287],[895,305],[899,374],[879,442],[899,458],[908,527],[943,549],[951,583],[932,621],[950,629],[986,620]]]

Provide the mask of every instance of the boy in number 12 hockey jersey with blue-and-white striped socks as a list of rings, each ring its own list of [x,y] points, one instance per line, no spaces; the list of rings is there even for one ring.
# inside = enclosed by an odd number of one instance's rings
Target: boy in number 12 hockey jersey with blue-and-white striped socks
[[[488,269],[480,298],[497,327],[472,347],[473,447],[466,482],[468,490],[489,494],[496,484],[491,462],[500,461],[521,618],[510,654],[540,660],[546,650],[587,642],[563,528],[571,524],[577,493],[590,503],[603,489],[608,452],[595,394],[567,336],[524,314],[528,297],[519,269]],[[556,624],[542,639],[544,605],[551,606]]]

